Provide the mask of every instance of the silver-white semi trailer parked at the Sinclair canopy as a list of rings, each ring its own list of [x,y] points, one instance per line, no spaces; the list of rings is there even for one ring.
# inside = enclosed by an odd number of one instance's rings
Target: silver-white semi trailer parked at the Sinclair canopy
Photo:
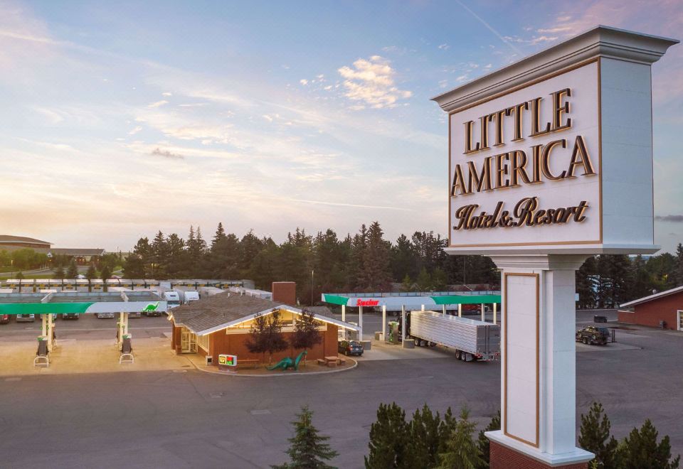
[[[411,311],[408,335],[415,345],[443,345],[455,350],[458,360],[498,360],[500,326],[480,320],[443,315],[435,311]]]

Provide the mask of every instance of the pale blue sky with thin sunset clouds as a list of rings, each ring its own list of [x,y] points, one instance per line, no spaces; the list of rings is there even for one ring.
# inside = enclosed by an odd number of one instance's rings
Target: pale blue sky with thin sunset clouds
[[[131,249],[218,222],[281,242],[448,228],[431,97],[679,1],[0,1],[0,234]],[[683,242],[683,45],[652,67],[655,243]]]

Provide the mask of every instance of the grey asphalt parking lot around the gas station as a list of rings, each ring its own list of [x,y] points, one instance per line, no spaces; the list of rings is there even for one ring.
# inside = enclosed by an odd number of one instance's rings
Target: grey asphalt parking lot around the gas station
[[[579,311],[577,326],[592,318],[592,311]],[[58,340],[115,334],[115,320],[58,320],[57,326]],[[163,341],[169,331],[165,317],[132,319],[130,326],[134,340]],[[381,316],[364,315],[366,337],[380,329]],[[38,331],[38,322],[0,325],[0,345],[35,340]],[[607,347],[577,344],[578,413],[601,401],[618,438],[650,418],[682,453],[683,334],[629,327],[617,330],[617,340]],[[0,454],[8,467],[267,468],[285,461],[290,421],[309,404],[314,424],[341,453],[334,465],[361,468],[381,402],[396,401],[406,414],[425,402],[442,413],[466,404],[483,425],[500,399],[498,363],[459,362],[438,348],[381,345],[348,372],[267,379],[191,367],[20,376],[2,366]]]

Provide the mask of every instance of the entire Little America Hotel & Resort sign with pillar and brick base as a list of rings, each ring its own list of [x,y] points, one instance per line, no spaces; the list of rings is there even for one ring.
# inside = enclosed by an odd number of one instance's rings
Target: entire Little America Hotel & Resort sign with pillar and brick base
[[[502,271],[491,469],[593,456],[575,446],[574,276],[593,254],[659,249],[651,68],[678,42],[597,26],[433,98],[448,112],[444,250]]]

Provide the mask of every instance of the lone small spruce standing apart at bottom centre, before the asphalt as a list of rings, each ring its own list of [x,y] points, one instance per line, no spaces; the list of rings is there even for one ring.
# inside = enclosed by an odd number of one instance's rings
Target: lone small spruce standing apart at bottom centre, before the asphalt
[[[329,436],[320,436],[318,429],[313,426],[313,412],[308,406],[301,408],[301,414],[297,414],[299,419],[293,421],[295,436],[289,438],[291,443],[287,455],[290,462],[282,465],[271,465],[273,469],[334,469],[324,461],[334,459],[339,455],[337,451],[330,448],[327,441]]]

